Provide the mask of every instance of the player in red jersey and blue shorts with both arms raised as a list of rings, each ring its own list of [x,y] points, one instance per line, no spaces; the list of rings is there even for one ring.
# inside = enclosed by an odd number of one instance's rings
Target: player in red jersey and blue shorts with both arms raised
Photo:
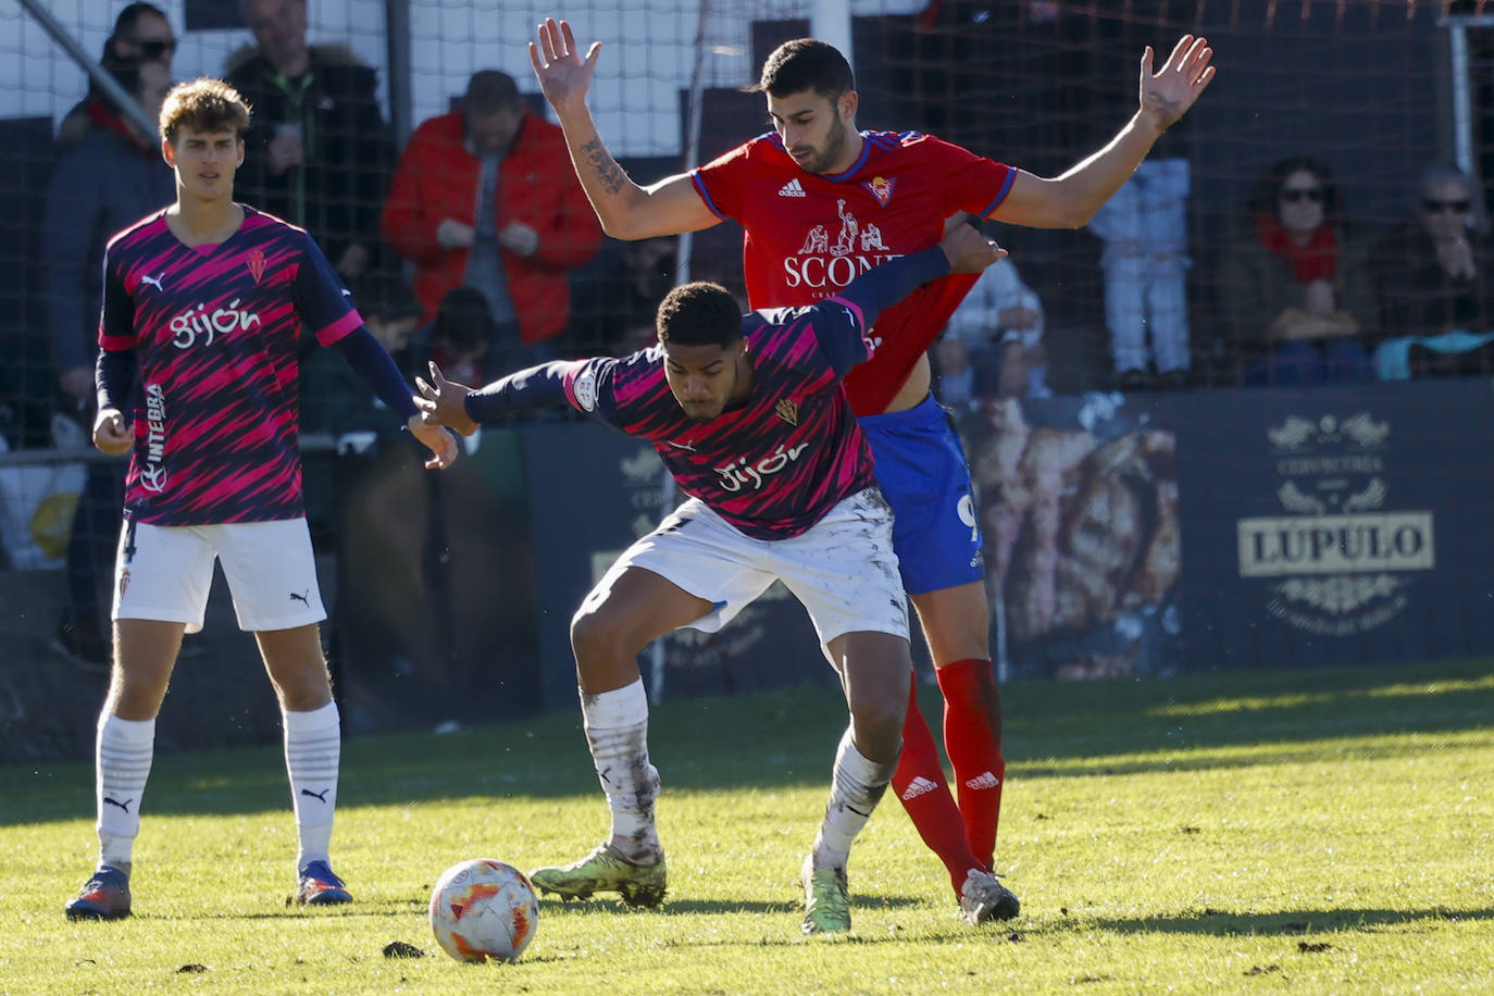
[[[935,243],[956,212],[1077,228],[1125,182],[1161,133],[1213,79],[1212,49],[1183,36],[1158,73],[1141,55],[1140,109],[1103,149],[1056,178],[995,163],[937,137],[856,130],[856,81],[831,45],[780,45],[754,90],[772,131],[692,170],[639,187],[607,151],[586,106],[601,42],[581,57],[571,25],[545,19],[529,55],[556,109],[571,160],[607,234],[693,231],[725,218],[744,231],[753,308],[807,305],[838,293],[881,260]],[[935,281],[889,309],[877,349],[846,378],[896,515],[893,542],[944,694],[944,748],[959,782],[949,791],[938,748],[910,681],[902,759],[892,785],[919,835],[944,862],[971,924],[1017,915],[994,877],[1005,760],[1001,696],[991,669],[980,526],[970,469],[929,393],[926,349],[974,278]]]

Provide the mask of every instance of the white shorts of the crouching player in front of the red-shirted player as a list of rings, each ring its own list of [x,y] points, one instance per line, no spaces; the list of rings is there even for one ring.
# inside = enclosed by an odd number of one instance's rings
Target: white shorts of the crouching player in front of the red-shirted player
[[[627,567],[644,567],[714,603],[690,623],[707,633],[726,626],[774,581],[810,612],[820,644],[856,632],[907,639],[908,615],[892,553],[892,509],[867,488],[793,539],[751,539],[690,499],[659,529],[623,551],[598,588]]]

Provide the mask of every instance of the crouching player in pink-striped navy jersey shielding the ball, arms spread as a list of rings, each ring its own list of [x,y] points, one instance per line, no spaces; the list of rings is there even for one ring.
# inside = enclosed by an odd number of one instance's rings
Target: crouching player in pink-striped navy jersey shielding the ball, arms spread
[[[898,763],[913,666],[892,514],[841,378],[872,352],[867,332],[889,305],[1002,255],[959,225],[807,308],[741,315],[723,287],[684,284],[659,306],[657,345],[641,352],[548,363],[478,391],[435,364],[432,384],[417,379],[427,418],[462,433],[518,408],[569,403],[650,441],[690,496],[619,557],[571,621],[613,827],[580,862],[535,871],[535,885],[565,897],[616,891],[630,906],[663,900],[659,772],[636,656],[672,629],[719,630],[780,579],[808,609],[850,708],[804,862],[804,932],[850,930],[846,860]]]

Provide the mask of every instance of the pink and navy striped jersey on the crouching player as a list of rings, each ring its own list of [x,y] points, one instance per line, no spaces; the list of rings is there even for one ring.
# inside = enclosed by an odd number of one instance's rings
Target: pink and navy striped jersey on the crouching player
[[[565,372],[578,411],[650,441],[680,488],[753,539],[789,539],[840,500],[871,487],[871,449],[822,339],[855,339],[862,312],[844,299],[743,315],[753,367],[747,400],[710,421],[684,414],[663,372],[663,348],[599,357]],[[844,352],[844,348],[841,348]]]

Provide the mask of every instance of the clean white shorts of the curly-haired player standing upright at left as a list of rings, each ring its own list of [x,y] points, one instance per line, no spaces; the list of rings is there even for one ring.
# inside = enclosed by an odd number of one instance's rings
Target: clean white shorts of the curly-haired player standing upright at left
[[[327,618],[305,518],[218,526],[125,521],[114,567],[114,618],[202,629],[212,561],[223,563],[239,629],[279,630]]]

